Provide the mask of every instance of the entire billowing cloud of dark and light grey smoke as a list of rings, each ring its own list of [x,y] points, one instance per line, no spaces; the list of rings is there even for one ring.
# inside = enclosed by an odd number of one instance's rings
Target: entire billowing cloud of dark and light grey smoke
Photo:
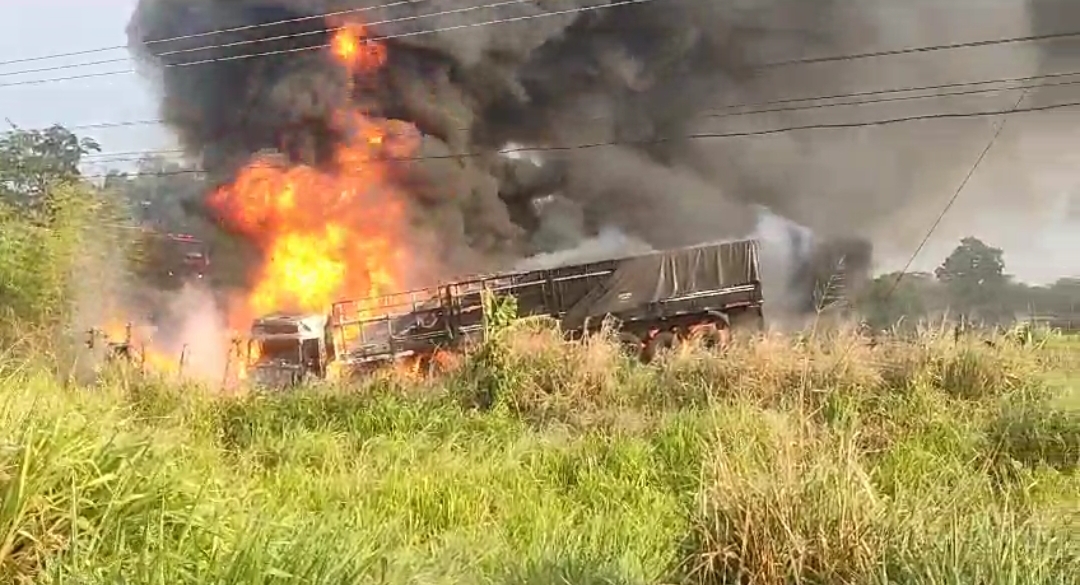
[[[671,247],[745,236],[766,206],[818,234],[907,246],[988,138],[989,122],[687,140],[696,133],[873,120],[985,108],[985,96],[724,117],[726,104],[842,94],[1010,74],[1008,59],[931,54],[771,69],[765,63],[1026,33],[1061,23],[1066,0],[994,4],[983,25],[964,0],[141,0],[131,43],[159,78],[162,115],[221,180],[261,150],[326,164],[342,139],[333,112],[362,108],[422,133],[418,157],[394,164],[417,229],[454,264],[554,253],[605,230]],[[386,4],[386,5],[380,5]],[[943,4],[953,9],[946,14]],[[486,8],[485,8],[486,6]],[[1071,4],[1070,4],[1071,6]],[[372,23],[389,63],[350,84],[325,51],[339,21],[158,42],[352,9]],[[476,10],[472,10],[476,9]],[[1080,12],[1070,9],[1072,12]],[[454,12],[457,11],[457,12]],[[440,16],[426,16],[433,13]],[[984,11],[978,11],[984,14]],[[490,26],[475,23],[504,21]],[[1080,14],[1074,22],[1080,23]],[[957,25],[971,39],[958,39]],[[1064,26],[1064,25],[1063,25]],[[464,27],[464,28],[462,28]],[[961,27],[962,28],[962,27]],[[453,29],[426,32],[435,29]],[[288,37],[288,38],[282,38]],[[267,40],[276,38],[276,40]],[[257,41],[257,42],[256,42]],[[191,51],[208,44],[230,46]],[[235,58],[252,53],[272,56]],[[1015,69],[1051,53],[1010,53]],[[230,59],[180,66],[206,59]],[[163,67],[164,66],[164,67]],[[994,69],[991,71],[991,69]],[[983,74],[983,72],[988,73]],[[1001,98],[1001,96],[997,96]],[[1002,101],[989,107],[1009,104]],[[546,147],[543,164],[498,154]],[[462,157],[455,157],[462,155]],[[557,194],[558,205],[538,201]],[[553,212],[553,208],[557,210]]]

